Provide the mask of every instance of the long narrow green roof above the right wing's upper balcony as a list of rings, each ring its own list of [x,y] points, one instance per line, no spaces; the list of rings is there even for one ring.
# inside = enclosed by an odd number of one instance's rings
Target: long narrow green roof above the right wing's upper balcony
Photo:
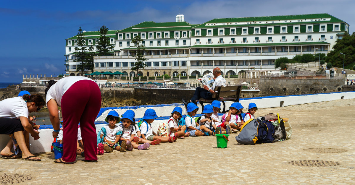
[[[193,45],[191,47],[233,47],[233,46],[275,46],[275,45],[315,45],[315,44],[330,44],[327,42],[302,42],[302,43],[267,43],[267,44],[211,44],[211,45]]]

